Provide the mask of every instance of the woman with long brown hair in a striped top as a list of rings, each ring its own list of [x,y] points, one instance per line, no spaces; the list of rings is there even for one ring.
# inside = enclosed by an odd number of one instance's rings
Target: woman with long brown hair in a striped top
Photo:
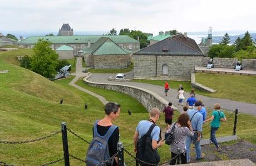
[[[173,132],[174,139],[170,144],[171,151],[171,160],[169,162],[170,165],[175,165],[178,155],[178,148],[180,149],[180,158],[181,164],[186,164],[186,148],[185,148],[185,138],[186,136],[193,137],[194,132],[191,127],[191,122],[189,121],[189,115],[183,113],[179,116],[178,121],[173,123],[170,126],[166,133]],[[180,164],[180,163],[177,163]]]

